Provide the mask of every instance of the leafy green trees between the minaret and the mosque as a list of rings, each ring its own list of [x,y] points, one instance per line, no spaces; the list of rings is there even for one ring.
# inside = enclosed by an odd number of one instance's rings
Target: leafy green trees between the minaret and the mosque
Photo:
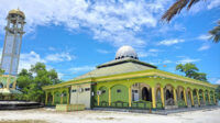
[[[16,86],[23,94],[18,98],[21,100],[43,102],[44,91],[42,87],[58,82],[61,82],[61,80],[55,69],[47,70],[45,64],[36,63],[32,65],[29,70],[22,69],[19,72]]]

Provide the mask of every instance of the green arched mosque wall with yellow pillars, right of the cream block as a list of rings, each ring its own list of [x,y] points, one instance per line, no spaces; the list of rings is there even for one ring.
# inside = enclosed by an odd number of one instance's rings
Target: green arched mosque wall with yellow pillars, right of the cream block
[[[138,87],[135,87],[138,85]],[[95,91],[98,90],[105,90],[105,93],[101,93],[100,96],[97,96],[95,92],[95,107],[123,107],[125,108],[127,105],[130,104],[130,107],[136,105],[139,103],[139,108],[148,108],[148,105],[153,108],[162,108],[164,104],[166,105],[167,99],[166,99],[166,89],[168,89],[173,94],[172,98],[174,100],[174,105],[179,105],[179,107],[187,107],[191,105],[191,98],[196,99],[197,94],[190,96],[193,90],[208,90],[209,92],[213,92],[213,88],[208,88],[199,85],[194,85],[185,81],[179,81],[179,80],[172,80],[172,79],[164,79],[164,78],[135,78],[135,79],[122,79],[122,80],[113,80],[113,81],[101,81],[97,82]],[[141,100],[141,90],[143,87],[146,87],[147,90],[151,90],[151,96],[154,96],[154,102],[153,98],[151,102],[143,102]],[[180,88],[179,88],[180,87]],[[153,90],[152,90],[153,88]],[[132,90],[140,90],[139,91],[139,101],[134,101],[132,98]],[[120,92],[118,92],[120,90]],[[161,96],[161,90],[163,90],[163,96]],[[179,92],[184,92],[183,100],[178,99]],[[175,92],[175,93],[174,93]],[[153,94],[152,94],[153,93]],[[202,99],[202,93],[199,92],[200,99]],[[162,97],[163,100],[162,100]],[[205,93],[206,101],[208,102],[208,96]],[[185,100],[186,99],[186,100]],[[213,98],[210,98],[213,102]],[[130,101],[131,100],[131,101]],[[196,100],[194,100],[196,101]],[[204,100],[202,100],[204,101]],[[109,103],[108,103],[109,102]],[[187,103],[188,102],[188,103]],[[117,104],[116,104],[117,103]],[[206,102],[205,102],[206,103]],[[121,105],[123,104],[123,105]],[[210,104],[209,102],[207,104]]]

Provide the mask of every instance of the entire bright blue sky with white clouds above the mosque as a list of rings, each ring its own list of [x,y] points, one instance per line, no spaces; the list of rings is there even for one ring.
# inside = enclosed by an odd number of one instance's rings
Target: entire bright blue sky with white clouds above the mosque
[[[42,62],[68,80],[114,59],[120,46],[131,45],[140,60],[158,69],[183,75],[175,66],[194,63],[209,81],[220,83],[220,44],[213,44],[207,33],[217,25],[220,1],[199,2],[164,23],[161,16],[173,2],[2,0],[0,48],[8,11],[19,7],[26,15],[19,69]]]

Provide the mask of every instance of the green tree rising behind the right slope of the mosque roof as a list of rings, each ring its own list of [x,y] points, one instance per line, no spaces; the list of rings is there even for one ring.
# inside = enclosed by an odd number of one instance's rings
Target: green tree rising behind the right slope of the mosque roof
[[[207,81],[207,75],[205,72],[198,72],[199,69],[196,67],[195,64],[187,63],[185,65],[179,64],[176,66],[176,70],[179,70],[180,72],[185,72],[186,77],[201,80],[201,81]]]

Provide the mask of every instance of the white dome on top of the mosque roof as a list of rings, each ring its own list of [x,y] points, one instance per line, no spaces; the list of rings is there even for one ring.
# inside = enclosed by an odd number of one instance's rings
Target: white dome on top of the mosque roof
[[[125,57],[139,59],[136,52],[131,46],[122,46],[118,49],[116,59],[122,59]]]

